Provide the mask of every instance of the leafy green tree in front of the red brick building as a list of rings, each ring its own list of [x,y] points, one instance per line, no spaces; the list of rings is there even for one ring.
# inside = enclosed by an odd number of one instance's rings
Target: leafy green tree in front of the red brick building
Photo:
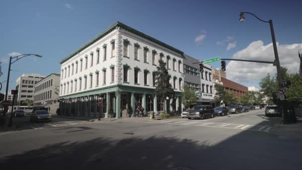
[[[223,86],[215,85],[216,93],[215,93],[215,102],[220,103],[221,100],[228,106],[230,104],[237,103],[237,98],[234,93],[230,91],[225,91]]]

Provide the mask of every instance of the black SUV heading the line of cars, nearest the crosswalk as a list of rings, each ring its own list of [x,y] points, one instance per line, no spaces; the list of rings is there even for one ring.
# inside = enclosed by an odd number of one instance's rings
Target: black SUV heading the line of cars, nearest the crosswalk
[[[189,109],[187,112],[188,119],[204,119],[205,117],[215,117],[214,109],[211,105],[197,105]]]

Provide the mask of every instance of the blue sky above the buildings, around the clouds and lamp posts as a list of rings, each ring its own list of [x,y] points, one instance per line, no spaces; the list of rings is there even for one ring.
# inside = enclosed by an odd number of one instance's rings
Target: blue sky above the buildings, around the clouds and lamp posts
[[[9,89],[14,88],[17,77],[23,73],[45,76],[59,73],[59,62],[63,58],[117,20],[200,60],[217,56],[240,58],[243,54],[246,58],[252,58],[254,55],[245,53],[244,49],[252,42],[262,50],[269,47],[272,41],[269,24],[262,23],[251,15],[245,15],[246,22],[240,23],[240,11],[255,13],[264,20],[273,19],[279,45],[298,44],[295,48],[284,46],[282,54],[297,57],[298,61],[297,49],[302,47],[301,6],[301,0],[2,1],[0,61],[3,75],[0,82],[6,80],[7,61],[12,52],[35,53],[44,57],[27,57],[14,63],[12,69],[18,71],[11,72]],[[253,45],[249,47],[254,47]],[[252,52],[254,49],[246,51]],[[280,56],[282,57],[284,56]],[[271,59],[268,58],[261,59]],[[291,66],[293,63],[285,61],[285,64]],[[291,71],[298,72],[296,65]],[[220,68],[220,63],[212,66]],[[227,77],[243,85],[251,85],[251,82],[257,85],[261,76],[267,72],[274,74],[273,71],[276,70],[273,66],[263,66],[259,70],[262,75],[255,78],[258,71],[250,68],[254,76],[246,78],[236,73],[237,68],[246,71],[246,66],[227,62],[228,68],[230,72],[227,72]],[[1,91],[4,87],[5,85]]]

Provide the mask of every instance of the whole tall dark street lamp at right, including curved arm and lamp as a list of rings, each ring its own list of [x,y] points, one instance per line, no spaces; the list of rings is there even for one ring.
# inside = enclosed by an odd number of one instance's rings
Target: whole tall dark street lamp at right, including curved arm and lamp
[[[260,18],[258,18],[256,15],[254,15],[253,13],[250,12],[240,12],[240,18],[239,21],[240,22],[244,22],[245,21],[245,17],[243,16],[244,13],[248,13],[251,14],[253,16],[255,16],[258,20],[262,21],[262,22],[267,22],[270,24],[270,28],[271,28],[271,34],[272,34],[272,41],[273,41],[273,48],[274,48],[274,54],[275,54],[275,62],[274,65],[277,67],[277,76],[278,76],[278,84],[279,87],[283,87],[283,79],[282,79],[282,75],[281,75],[281,67],[280,67],[280,62],[279,62],[279,56],[278,56],[278,51],[277,51],[277,45],[276,45],[276,38],[275,38],[275,32],[274,32],[274,27],[273,27],[273,20],[270,19],[269,21],[265,21],[262,20]],[[283,116],[284,116],[284,121],[287,122],[287,113],[285,111],[285,105],[284,105],[284,101],[281,100],[281,105],[282,105],[282,110],[283,110]]]

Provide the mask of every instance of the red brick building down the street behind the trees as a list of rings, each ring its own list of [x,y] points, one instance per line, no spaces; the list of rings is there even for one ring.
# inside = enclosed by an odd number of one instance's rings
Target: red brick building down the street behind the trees
[[[225,78],[221,78],[221,80],[224,83],[225,90],[232,91],[237,97],[245,95],[248,91],[248,88],[244,85],[237,84]]]

